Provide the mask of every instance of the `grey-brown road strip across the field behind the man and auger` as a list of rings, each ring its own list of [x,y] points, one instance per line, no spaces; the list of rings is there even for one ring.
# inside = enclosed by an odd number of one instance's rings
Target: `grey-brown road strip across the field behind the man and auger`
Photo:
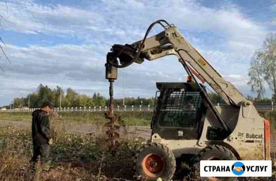
[[[4,121],[0,120],[0,126],[18,126],[31,130],[32,124],[23,121]],[[103,133],[102,126],[86,126],[86,125],[66,125],[65,130],[75,134],[97,134]],[[126,126],[120,128],[120,136],[128,138],[143,138],[149,139],[151,130],[149,126]]]

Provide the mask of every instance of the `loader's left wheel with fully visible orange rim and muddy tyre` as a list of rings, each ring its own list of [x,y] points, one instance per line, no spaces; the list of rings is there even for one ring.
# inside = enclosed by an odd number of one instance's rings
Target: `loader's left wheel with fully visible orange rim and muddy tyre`
[[[146,181],[158,178],[168,181],[172,179],[176,167],[173,152],[160,143],[142,146],[135,156],[134,165],[137,176]]]

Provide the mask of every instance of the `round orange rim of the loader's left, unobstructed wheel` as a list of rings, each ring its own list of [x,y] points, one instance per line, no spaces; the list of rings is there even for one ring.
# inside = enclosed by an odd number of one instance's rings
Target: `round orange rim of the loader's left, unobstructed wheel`
[[[158,177],[162,174],[165,163],[162,156],[156,153],[146,155],[142,161],[142,168],[148,177]]]

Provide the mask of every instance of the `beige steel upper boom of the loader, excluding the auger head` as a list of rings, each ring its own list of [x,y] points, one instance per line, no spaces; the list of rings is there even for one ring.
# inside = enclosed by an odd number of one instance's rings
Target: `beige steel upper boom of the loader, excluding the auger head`
[[[138,47],[140,43],[141,41],[135,42],[132,46]],[[227,104],[241,106],[243,102],[247,102],[242,93],[225,80],[174,25],[169,25],[159,34],[145,39],[141,50],[141,56],[147,60],[155,60],[167,55],[176,55],[182,64],[184,61],[188,63],[193,68],[190,68],[190,71],[193,74],[196,71],[197,77],[200,80],[204,79]]]

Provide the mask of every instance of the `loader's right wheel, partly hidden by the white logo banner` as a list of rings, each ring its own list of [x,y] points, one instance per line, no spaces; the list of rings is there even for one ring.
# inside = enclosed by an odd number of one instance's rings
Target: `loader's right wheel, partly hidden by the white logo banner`
[[[234,177],[200,177],[200,161],[201,160],[237,160],[236,156],[229,149],[220,145],[210,145],[202,149],[194,162],[194,177],[199,181],[236,181]]]

